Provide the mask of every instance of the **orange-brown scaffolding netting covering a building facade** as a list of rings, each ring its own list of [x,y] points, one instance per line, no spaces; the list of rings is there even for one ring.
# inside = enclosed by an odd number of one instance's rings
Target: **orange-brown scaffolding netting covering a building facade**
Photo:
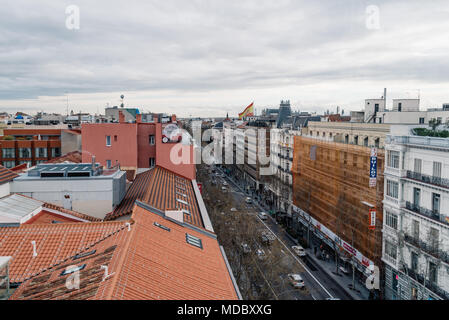
[[[371,148],[295,137],[293,203],[377,266],[382,256],[384,150],[377,152],[377,181],[370,187]],[[369,209],[376,226],[369,229]]]

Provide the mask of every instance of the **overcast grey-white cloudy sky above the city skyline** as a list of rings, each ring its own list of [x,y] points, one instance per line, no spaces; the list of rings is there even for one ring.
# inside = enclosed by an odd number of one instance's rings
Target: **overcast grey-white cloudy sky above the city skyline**
[[[0,111],[449,102],[449,1],[2,0]],[[79,8],[79,29],[66,8]],[[374,7],[373,7],[374,6]],[[390,102],[391,103],[391,102]]]

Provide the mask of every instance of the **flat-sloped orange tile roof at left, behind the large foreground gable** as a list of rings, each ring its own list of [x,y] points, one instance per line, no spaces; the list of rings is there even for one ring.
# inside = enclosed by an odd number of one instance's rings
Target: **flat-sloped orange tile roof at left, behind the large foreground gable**
[[[22,282],[87,250],[124,227],[124,221],[112,221],[1,228],[0,256],[12,257],[11,282]],[[33,257],[31,241],[36,242],[36,257]]]

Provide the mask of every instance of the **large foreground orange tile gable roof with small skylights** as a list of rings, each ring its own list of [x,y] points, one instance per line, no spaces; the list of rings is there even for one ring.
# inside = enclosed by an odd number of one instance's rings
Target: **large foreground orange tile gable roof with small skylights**
[[[70,255],[59,266],[24,282],[11,299],[237,299],[214,234],[175,223],[141,203],[132,218],[130,231],[117,229],[79,252],[95,250],[89,256],[74,260],[75,255]],[[201,239],[202,248],[187,243],[186,234]],[[69,265],[85,265],[79,290],[65,286],[68,276],[61,272]],[[110,275],[104,281],[102,265]]]

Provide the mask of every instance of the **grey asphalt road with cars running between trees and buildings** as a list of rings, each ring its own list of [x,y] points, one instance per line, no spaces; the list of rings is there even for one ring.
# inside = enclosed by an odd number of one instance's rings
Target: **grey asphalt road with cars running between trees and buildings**
[[[296,269],[295,267],[301,266],[301,269],[304,270],[300,272],[301,277],[304,280],[304,283],[310,292],[311,298],[314,300],[325,300],[327,298],[338,298],[341,300],[351,300],[352,298],[341,289],[338,284],[329,277],[329,275],[322,271],[319,266],[316,265],[316,262],[307,257],[298,257],[293,253],[291,247],[295,245],[291,238],[287,236],[285,230],[279,226],[276,221],[272,217],[268,217],[267,220],[262,221],[257,216],[257,213],[263,211],[258,204],[247,205],[245,204],[245,198],[247,195],[240,189],[237,183],[235,183],[232,179],[227,177],[220,177],[217,181],[226,181],[228,183],[227,192],[231,192],[233,197],[235,198],[237,203],[242,203],[246,206],[248,212],[252,213],[254,218],[261,226],[270,230],[278,241],[282,244],[284,248],[284,254],[289,256],[292,260],[292,269]],[[294,264],[297,264],[296,266]],[[286,296],[282,295],[279,297],[280,299],[298,299],[301,298],[295,292],[287,292]],[[303,297],[302,297],[303,299]]]

